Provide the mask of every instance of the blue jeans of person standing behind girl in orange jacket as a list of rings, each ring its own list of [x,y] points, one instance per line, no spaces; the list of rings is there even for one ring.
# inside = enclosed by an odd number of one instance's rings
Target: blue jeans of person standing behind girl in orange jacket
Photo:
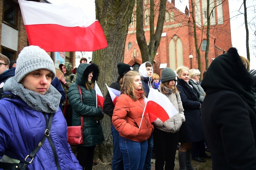
[[[112,170],[123,170],[124,162],[123,156],[119,147],[119,132],[115,129],[114,125],[111,123],[111,132],[113,138],[113,159],[112,159]]]

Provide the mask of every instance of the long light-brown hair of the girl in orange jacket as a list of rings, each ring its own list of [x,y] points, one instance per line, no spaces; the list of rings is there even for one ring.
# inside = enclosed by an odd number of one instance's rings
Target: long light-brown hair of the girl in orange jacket
[[[126,94],[128,95],[133,101],[138,100],[138,97],[135,93],[135,88],[133,85],[133,78],[134,76],[139,75],[138,71],[129,71],[125,73],[124,77],[119,81],[120,86],[121,86],[121,94]],[[141,86],[141,90],[143,90]],[[143,99],[145,98],[145,95],[142,97]]]

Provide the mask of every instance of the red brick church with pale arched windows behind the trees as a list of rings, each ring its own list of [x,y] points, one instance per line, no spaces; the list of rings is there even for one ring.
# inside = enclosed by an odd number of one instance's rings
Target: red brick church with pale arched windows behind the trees
[[[202,72],[205,70],[205,49],[207,44],[206,27],[207,0],[193,0],[195,3],[195,20],[197,30],[197,44],[200,46]],[[144,5],[144,31],[148,41],[150,39],[150,23],[147,18],[150,15],[149,4],[145,0]],[[230,47],[231,31],[229,18],[228,0],[210,0],[210,47],[208,54],[209,65],[220,54],[225,53]],[[155,0],[155,6],[158,6],[159,0]],[[134,12],[136,6],[134,6]],[[198,57],[195,48],[193,19],[190,14],[192,11],[191,1],[189,0],[189,10],[186,7],[185,13],[175,7],[175,0],[168,1],[166,4],[165,23],[161,35],[160,45],[158,47],[153,65],[154,72],[159,74],[165,67],[176,70],[177,67],[187,66],[198,68]],[[156,14],[157,17],[158,14]],[[155,19],[155,29],[157,18]],[[193,55],[190,59],[189,56]],[[140,49],[136,40],[136,15],[132,15],[129,26],[124,63],[133,66],[135,70],[142,64]]]

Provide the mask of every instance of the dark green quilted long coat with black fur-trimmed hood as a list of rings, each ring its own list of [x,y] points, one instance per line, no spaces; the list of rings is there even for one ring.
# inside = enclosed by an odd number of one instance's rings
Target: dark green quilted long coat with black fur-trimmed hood
[[[101,107],[96,107],[96,91],[94,89],[87,90],[85,83],[87,83],[88,75],[93,71],[92,83],[98,78],[99,68],[96,64],[80,64],[77,68],[75,83],[71,84],[68,90],[69,103],[72,106],[72,125],[81,125],[80,116],[83,115],[83,139],[84,145],[82,147],[90,147],[101,144],[104,141],[104,136],[100,121],[96,120],[103,118],[104,113]],[[83,80],[84,78],[84,80]],[[77,84],[82,91],[81,95]]]

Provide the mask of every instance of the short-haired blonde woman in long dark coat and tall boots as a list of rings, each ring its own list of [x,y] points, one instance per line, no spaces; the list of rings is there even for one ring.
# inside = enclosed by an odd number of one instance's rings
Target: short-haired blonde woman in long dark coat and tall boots
[[[177,89],[180,91],[181,101],[184,108],[186,121],[182,124],[179,133],[179,164],[180,170],[193,169],[191,166],[191,144],[192,142],[204,139],[202,121],[200,117],[199,92],[189,84],[189,69],[179,67],[176,69],[178,74]]]

